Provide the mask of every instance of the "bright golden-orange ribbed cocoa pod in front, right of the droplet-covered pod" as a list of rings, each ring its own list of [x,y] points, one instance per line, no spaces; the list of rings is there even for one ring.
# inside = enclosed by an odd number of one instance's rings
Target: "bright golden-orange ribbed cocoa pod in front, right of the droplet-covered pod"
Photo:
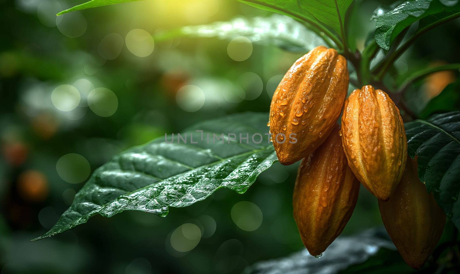
[[[388,200],[403,176],[407,139],[399,109],[382,90],[363,86],[345,101],[342,143],[358,180],[380,200]]]

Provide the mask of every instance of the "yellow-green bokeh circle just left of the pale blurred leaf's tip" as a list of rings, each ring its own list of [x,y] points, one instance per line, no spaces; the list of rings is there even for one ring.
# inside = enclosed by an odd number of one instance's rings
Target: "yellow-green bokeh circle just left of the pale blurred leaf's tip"
[[[126,47],[138,57],[147,57],[152,54],[155,42],[152,35],[144,29],[133,29],[126,35]]]

